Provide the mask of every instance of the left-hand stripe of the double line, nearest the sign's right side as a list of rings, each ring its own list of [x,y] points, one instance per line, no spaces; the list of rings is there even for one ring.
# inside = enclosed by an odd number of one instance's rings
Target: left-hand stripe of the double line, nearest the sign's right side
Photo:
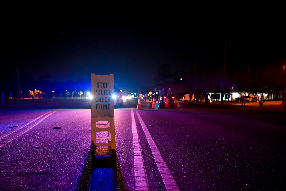
[[[135,177],[135,190],[149,191],[149,184],[145,170],[144,160],[142,156],[139,136],[137,132],[134,110],[131,108],[132,119],[132,136],[133,136],[133,155],[134,155],[134,177]]]

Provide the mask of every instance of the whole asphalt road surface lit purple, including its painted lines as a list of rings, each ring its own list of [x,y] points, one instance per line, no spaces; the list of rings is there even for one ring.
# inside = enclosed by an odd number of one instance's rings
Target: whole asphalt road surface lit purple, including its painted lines
[[[285,116],[131,106],[115,109],[107,159],[92,157],[85,102],[0,109],[0,189],[283,190]]]

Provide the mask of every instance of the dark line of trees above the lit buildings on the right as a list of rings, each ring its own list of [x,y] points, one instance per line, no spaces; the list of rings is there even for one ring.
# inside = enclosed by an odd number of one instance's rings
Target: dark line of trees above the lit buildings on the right
[[[239,93],[242,96],[250,91],[250,94],[267,94],[267,99],[271,94],[278,94],[285,86],[285,71],[283,65],[278,66],[245,66],[239,65],[225,73],[221,68],[197,68],[190,67],[187,70],[172,73],[169,64],[161,64],[154,78],[153,87],[156,89],[171,87],[177,99],[188,92],[192,92],[196,97],[200,97],[208,88],[209,92]],[[280,95],[280,94],[279,94]],[[276,96],[276,99],[282,97]],[[262,105],[265,100],[262,100]]]

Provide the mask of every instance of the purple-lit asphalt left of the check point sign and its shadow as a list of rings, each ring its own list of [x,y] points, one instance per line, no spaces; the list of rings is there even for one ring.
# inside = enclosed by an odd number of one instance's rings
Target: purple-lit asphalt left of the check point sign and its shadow
[[[90,149],[91,112],[37,106],[1,109],[0,189],[77,189]]]

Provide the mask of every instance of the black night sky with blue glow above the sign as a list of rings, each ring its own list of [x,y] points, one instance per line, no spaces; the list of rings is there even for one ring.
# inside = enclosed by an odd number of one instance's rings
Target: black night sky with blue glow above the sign
[[[282,5],[129,6],[9,8],[1,13],[1,84],[17,78],[18,64],[20,83],[113,73],[124,90],[151,88],[163,63],[172,73],[195,60],[198,70],[222,68],[226,31],[226,71],[285,61]]]

